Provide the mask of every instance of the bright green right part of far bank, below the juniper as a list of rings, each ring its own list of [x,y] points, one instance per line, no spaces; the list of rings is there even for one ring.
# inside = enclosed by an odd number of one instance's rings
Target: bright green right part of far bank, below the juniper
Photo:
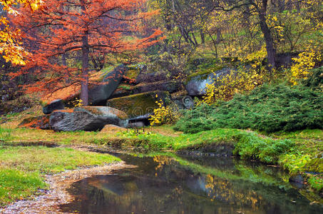
[[[170,127],[163,127],[170,129]],[[167,133],[167,132],[166,132]],[[145,133],[128,131],[119,134],[118,143],[108,145],[145,148],[146,151],[181,151],[205,148],[209,145],[233,147],[240,158],[278,164],[290,175],[302,174],[317,193],[323,190],[323,131],[319,129],[272,133],[268,136],[255,131],[216,128],[200,133],[179,135],[160,134],[157,130]]]

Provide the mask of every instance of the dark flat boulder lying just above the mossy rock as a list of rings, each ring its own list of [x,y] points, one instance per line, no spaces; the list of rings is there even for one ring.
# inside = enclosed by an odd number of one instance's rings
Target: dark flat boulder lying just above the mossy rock
[[[133,93],[145,93],[149,91],[168,91],[173,93],[175,91],[180,91],[182,88],[182,83],[180,81],[158,81],[158,82],[148,82],[140,83],[133,88]]]

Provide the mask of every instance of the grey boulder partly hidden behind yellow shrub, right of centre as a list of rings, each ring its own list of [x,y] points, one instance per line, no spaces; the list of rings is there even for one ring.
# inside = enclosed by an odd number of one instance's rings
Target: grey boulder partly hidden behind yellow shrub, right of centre
[[[190,96],[203,96],[206,93],[207,84],[212,84],[217,78],[222,78],[231,71],[235,71],[232,68],[222,68],[213,73],[193,73],[193,75],[188,76],[188,82],[185,85],[186,91]]]

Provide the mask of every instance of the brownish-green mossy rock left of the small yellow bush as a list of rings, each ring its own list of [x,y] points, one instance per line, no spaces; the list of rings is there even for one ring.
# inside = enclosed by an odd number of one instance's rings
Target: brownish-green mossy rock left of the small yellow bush
[[[154,108],[158,108],[156,101],[162,99],[163,103],[168,103],[170,94],[165,91],[151,91],[138,93],[121,98],[113,98],[107,101],[107,106],[120,109],[130,117],[142,116],[153,113]]]

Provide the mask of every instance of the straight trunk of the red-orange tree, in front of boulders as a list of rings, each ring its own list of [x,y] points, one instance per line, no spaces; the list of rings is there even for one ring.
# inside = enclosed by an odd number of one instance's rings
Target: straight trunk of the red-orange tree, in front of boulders
[[[88,106],[88,33],[82,36],[82,75],[81,100],[83,106]]]

